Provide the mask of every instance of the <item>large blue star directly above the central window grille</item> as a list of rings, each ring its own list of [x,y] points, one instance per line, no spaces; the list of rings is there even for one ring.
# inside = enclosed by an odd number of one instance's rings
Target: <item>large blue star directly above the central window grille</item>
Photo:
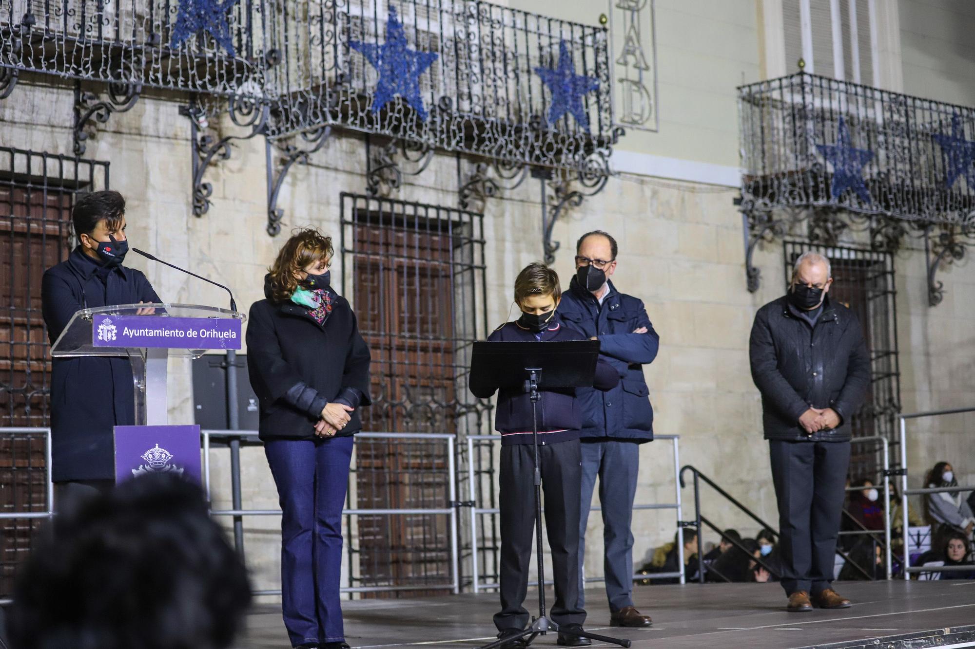
[[[349,47],[366,57],[379,73],[372,98],[372,112],[378,113],[396,95],[402,96],[424,122],[427,118],[423,99],[420,97],[420,75],[439,57],[433,52],[410,50],[403,23],[396,15],[396,8],[389,8],[386,22],[386,42],[363,43],[349,41]]]

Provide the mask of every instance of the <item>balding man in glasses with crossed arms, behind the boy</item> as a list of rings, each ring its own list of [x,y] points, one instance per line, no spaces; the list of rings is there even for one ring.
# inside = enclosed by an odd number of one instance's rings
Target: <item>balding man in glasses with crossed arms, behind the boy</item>
[[[579,606],[583,600],[586,523],[596,478],[603,508],[604,570],[609,624],[649,627],[649,616],[633,605],[633,500],[637,493],[640,444],[653,439],[643,365],[657,356],[659,336],[643,301],[616,291],[609,281],[616,271],[616,240],[590,232],[575,247],[575,276],[563,293],[559,316],[565,325],[600,341],[600,352],[620,376],[607,392],[576,392],[582,409],[582,493],[579,517]]]

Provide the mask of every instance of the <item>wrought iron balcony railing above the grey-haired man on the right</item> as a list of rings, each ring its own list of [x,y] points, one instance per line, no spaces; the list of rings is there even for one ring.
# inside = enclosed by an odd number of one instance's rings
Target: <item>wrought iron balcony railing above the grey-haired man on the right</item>
[[[738,104],[749,289],[755,246],[805,221],[826,244],[857,225],[875,248],[924,237],[940,301],[935,271],[975,238],[975,108],[805,73],[742,86]]]

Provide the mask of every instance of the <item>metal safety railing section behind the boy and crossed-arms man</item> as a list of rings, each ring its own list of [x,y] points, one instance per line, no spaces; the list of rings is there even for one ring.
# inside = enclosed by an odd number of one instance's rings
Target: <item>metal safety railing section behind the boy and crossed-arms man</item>
[[[477,441],[499,441],[501,439],[500,435],[471,435],[467,437],[467,477],[468,477],[468,488],[469,488],[469,504],[470,504],[470,522],[471,522],[471,581],[474,592],[481,592],[487,590],[497,589],[499,584],[495,583],[484,583],[481,581],[481,571],[478,562],[478,516],[480,515],[497,515],[500,513],[498,508],[483,508],[477,506],[477,480],[475,476],[474,469],[474,444]],[[681,484],[678,480],[678,473],[681,467],[681,452],[678,435],[655,435],[654,440],[668,439],[674,442],[674,503],[660,503],[653,505],[634,505],[634,511],[637,510],[675,510],[677,512],[677,528],[678,528],[678,572],[661,572],[653,573],[652,575],[633,575],[633,581],[643,581],[645,579],[667,579],[677,577],[680,579],[681,583],[684,583],[684,571],[683,571],[683,520],[682,520],[682,510],[681,510]],[[602,507],[593,507],[590,511],[600,512]],[[543,510],[544,511],[544,510]],[[598,583],[605,581],[604,577],[589,577],[586,578],[585,583]],[[549,585],[550,582],[546,582]]]

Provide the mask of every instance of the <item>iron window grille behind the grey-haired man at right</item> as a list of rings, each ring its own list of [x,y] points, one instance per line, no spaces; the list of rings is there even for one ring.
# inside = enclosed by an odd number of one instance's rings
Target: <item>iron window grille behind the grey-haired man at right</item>
[[[793,265],[808,250],[815,250],[830,260],[833,267],[830,297],[856,314],[870,355],[871,390],[859,412],[852,416],[853,437],[882,437],[893,446],[898,443],[896,418],[901,408],[894,256],[868,248],[825,247],[787,241],[787,286],[792,279]],[[850,477],[869,477],[879,484],[883,464],[880,451],[879,442],[854,446]],[[897,456],[893,452],[892,457]]]

